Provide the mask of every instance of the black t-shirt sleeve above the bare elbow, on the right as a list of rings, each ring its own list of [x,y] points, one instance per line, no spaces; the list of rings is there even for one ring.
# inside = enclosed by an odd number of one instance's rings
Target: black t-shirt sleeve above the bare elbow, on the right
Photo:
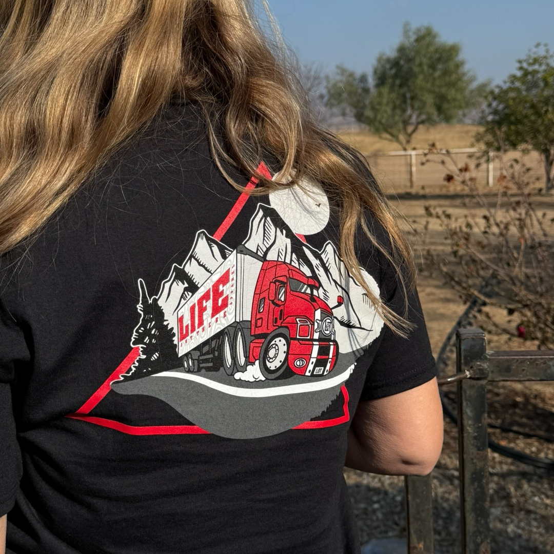
[[[388,307],[404,314],[404,290],[397,271],[380,255],[381,297]],[[394,334],[386,325],[377,338],[377,351],[370,348],[362,356],[368,363],[361,401],[374,400],[407,391],[426,383],[437,375],[417,290],[407,288],[407,319],[415,325],[406,338]],[[372,358],[372,359],[371,359]]]

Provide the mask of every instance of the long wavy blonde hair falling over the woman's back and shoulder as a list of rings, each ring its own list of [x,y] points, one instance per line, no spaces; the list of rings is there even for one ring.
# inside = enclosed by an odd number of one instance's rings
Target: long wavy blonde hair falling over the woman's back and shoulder
[[[406,293],[413,263],[391,207],[365,159],[311,119],[247,0],[4,0],[0,29],[0,254],[36,234],[168,101],[193,101],[223,172],[231,162],[255,175],[269,152],[295,176],[289,185],[324,183],[340,207],[347,269],[391,329],[409,329],[356,259],[361,226]],[[288,186],[257,176],[255,194]],[[392,249],[372,234],[367,210]]]

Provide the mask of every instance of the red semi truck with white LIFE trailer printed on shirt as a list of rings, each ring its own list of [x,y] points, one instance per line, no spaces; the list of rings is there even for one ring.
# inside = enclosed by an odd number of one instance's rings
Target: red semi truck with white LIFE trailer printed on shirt
[[[245,371],[259,360],[266,379],[327,375],[338,345],[319,283],[293,265],[238,247],[177,313],[185,371]],[[342,297],[337,298],[337,305]]]

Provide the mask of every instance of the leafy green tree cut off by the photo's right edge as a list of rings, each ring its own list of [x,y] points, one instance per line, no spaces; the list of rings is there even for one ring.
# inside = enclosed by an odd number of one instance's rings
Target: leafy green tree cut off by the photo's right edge
[[[489,150],[529,148],[540,153],[545,188],[554,188],[554,53],[537,44],[517,60],[517,71],[496,86],[486,103],[485,129],[477,135]]]

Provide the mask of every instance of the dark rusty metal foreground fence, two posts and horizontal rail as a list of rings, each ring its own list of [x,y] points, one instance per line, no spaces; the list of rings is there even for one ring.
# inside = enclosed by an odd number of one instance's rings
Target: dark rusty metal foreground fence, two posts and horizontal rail
[[[554,351],[486,351],[480,329],[456,334],[461,554],[490,554],[486,386],[489,381],[554,381]],[[433,554],[431,478],[406,478],[408,554]]]

